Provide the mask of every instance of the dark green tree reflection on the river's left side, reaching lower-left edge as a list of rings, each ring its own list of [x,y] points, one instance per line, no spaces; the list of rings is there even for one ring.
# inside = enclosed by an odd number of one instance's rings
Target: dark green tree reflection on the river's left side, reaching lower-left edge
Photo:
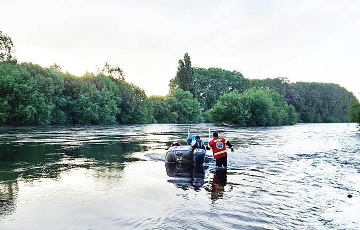
[[[130,156],[132,152],[145,149],[142,142],[115,142],[93,133],[78,136],[70,131],[60,132],[52,128],[38,127],[33,131],[26,127],[15,127],[15,130],[8,127],[5,128],[6,133],[1,133],[0,219],[16,210],[18,181],[33,184],[32,181],[44,178],[57,180],[76,168],[91,169],[93,178],[103,180],[106,175],[113,176],[113,172],[109,171],[121,171],[125,163],[143,160]],[[76,130],[82,128],[72,129]],[[59,138],[56,137],[58,135]],[[97,141],[89,141],[94,139]],[[99,139],[103,139],[102,142]],[[121,176],[121,173],[116,174]]]

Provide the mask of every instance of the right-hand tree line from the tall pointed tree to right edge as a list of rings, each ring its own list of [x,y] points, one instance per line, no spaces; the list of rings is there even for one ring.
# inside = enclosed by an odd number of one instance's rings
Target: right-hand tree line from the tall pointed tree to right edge
[[[338,84],[289,83],[285,77],[247,79],[239,71],[221,68],[186,71],[191,61],[187,53],[183,59],[170,90],[192,91],[207,121],[262,126],[352,120],[350,102],[357,99]]]

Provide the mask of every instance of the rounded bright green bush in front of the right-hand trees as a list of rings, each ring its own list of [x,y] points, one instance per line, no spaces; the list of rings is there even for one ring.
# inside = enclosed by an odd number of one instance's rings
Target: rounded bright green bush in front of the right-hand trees
[[[285,98],[272,89],[251,87],[243,93],[233,90],[223,94],[209,111],[216,123],[242,126],[286,125],[296,123],[296,112]]]

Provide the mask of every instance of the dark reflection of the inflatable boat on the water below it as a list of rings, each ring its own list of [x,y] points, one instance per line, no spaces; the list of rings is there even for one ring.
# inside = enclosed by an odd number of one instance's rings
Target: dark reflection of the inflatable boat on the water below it
[[[204,177],[206,166],[179,163],[165,163],[166,173],[175,179],[169,179],[168,182],[174,183],[179,186],[193,186],[200,187],[204,184]]]

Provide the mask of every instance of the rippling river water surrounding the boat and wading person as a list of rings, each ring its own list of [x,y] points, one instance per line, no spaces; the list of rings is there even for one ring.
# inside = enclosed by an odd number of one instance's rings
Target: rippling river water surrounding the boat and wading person
[[[187,127],[0,126],[0,229],[359,228],[354,123],[211,125],[226,170],[165,163]]]

